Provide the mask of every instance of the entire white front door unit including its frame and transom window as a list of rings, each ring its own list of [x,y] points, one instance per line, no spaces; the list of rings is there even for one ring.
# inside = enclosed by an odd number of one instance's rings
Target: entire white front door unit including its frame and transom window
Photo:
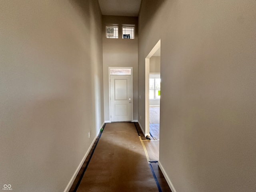
[[[109,67],[110,122],[132,121],[132,67]]]

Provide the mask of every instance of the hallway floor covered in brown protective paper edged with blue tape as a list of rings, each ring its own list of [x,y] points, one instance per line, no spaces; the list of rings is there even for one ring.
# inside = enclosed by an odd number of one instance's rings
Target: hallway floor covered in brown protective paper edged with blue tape
[[[158,163],[148,163],[158,158],[152,149],[159,143],[153,142],[138,123],[106,124],[70,192],[171,192]],[[142,143],[151,149],[148,156]]]

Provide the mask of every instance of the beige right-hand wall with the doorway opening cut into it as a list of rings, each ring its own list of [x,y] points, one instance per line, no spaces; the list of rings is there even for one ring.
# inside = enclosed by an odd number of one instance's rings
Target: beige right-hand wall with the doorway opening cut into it
[[[142,0],[138,115],[144,128],[145,58],[161,39],[159,162],[177,192],[256,189],[255,18],[255,0]]]

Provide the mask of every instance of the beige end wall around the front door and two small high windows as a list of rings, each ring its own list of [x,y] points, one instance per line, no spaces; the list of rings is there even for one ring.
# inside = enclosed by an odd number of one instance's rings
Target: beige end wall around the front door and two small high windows
[[[119,26],[119,38],[106,38],[106,26]],[[135,39],[122,39],[122,24],[135,25]],[[104,118],[109,118],[108,67],[133,67],[133,120],[138,120],[138,18],[102,16]]]

